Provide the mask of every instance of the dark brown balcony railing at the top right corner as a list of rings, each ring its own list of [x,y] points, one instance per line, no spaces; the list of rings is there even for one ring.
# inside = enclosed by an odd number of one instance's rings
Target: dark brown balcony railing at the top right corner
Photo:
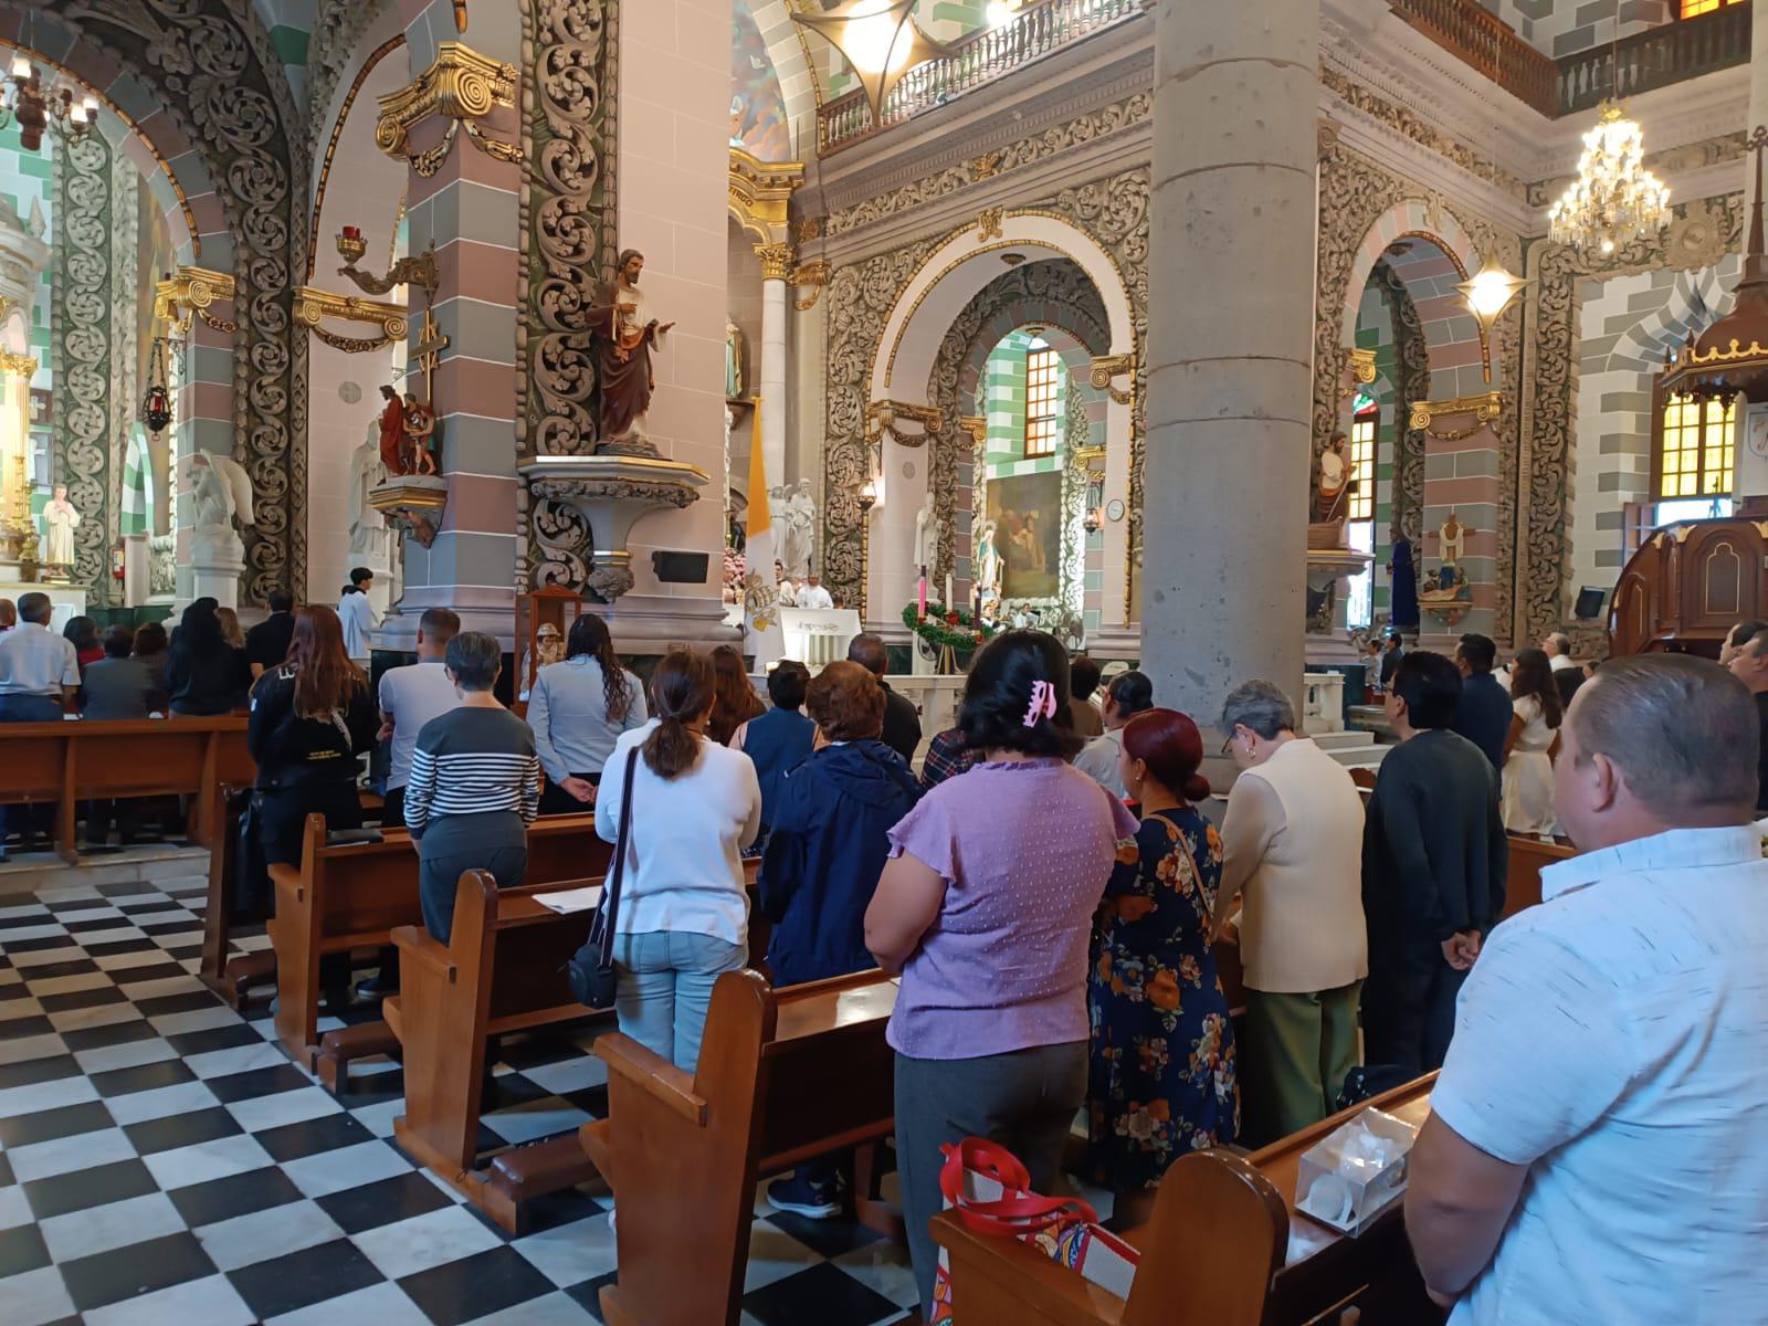
[[[1390,0],[1390,5],[1437,46],[1549,118],[1589,110],[1607,95],[1630,97],[1750,60],[1752,4],[1722,5],[1558,60],[1522,41],[1480,0]]]

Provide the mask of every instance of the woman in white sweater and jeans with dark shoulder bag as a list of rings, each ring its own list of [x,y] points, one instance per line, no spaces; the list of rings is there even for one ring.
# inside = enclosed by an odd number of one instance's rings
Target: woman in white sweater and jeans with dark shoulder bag
[[[705,737],[713,693],[704,654],[665,654],[651,721],[615,741],[596,796],[596,833],[610,843],[631,799],[613,939],[621,1031],[688,1073],[713,985],[750,958],[743,849],[762,820],[750,757]]]

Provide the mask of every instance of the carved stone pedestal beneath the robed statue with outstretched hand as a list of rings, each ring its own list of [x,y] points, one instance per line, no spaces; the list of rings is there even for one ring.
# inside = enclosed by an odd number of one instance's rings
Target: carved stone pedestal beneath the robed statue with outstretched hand
[[[615,603],[633,580],[628,537],[652,511],[681,509],[700,500],[711,481],[705,470],[658,456],[537,456],[522,467],[536,500],[568,502],[589,523],[594,550],[587,589]]]

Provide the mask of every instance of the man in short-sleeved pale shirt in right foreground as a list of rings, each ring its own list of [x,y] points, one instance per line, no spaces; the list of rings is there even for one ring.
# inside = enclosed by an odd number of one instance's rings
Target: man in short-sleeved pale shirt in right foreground
[[[1768,861],[1747,690],[1605,663],[1561,727],[1586,856],[1485,941],[1411,1155],[1453,1326],[1745,1322],[1768,1301]]]

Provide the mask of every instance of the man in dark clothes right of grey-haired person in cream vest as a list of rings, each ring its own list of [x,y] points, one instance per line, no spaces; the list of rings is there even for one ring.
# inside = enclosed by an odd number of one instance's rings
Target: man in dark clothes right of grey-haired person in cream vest
[[[1368,1063],[1413,1071],[1443,1066],[1455,995],[1505,911],[1510,843],[1497,773],[1448,730],[1460,672],[1441,654],[1407,654],[1386,711],[1400,746],[1388,751],[1363,831]]]

